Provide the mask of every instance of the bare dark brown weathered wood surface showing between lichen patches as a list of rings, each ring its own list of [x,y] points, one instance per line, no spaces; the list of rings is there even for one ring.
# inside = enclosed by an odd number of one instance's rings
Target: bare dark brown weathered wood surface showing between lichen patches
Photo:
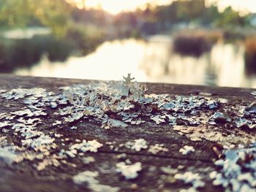
[[[43,77],[18,77],[8,74],[0,75],[0,89],[11,90],[12,88],[45,88],[48,91],[58,92],[59,87],[72,84],[89,84],[92,80],[69,80],[59,78]],[[197,95],[199,92],[211,93],[212,99],[228,99],[230,106],[244,104],[248,106],[255,101],[251,92],[253,89],[247,88],[217,88],[196,85],[171,85],[162,83],[144,83],[148,88],[148,93],[167,93],[174,95]],[[19,101],[6,101],[0,97],[0,112],[12,112],[20,107]],[[89,120],[81,120],[75,123],[78,126],[76,130],[70,130],[67,126],[61,128],[52,128],[52,119],[56,117],[53,112],[48,110],[48,115],[44,122],[37,128],[46,134],[62,134],[63,137],[56,138],[56,150],[64,148],[62,143],[69,145],[75,142],[75,139],[92,140],[97,139],[103,144],[97,153],[86,153],[85,156],[92,156],[95,162],[83,164],[80,158],[67,158],[68,164],[60,166],[47,166],[42,171],[37,171],[35,164],[38,162],[23,161],[19,164],[5,164],[0,161],[0,191],[90,191],[89,185],[77,185],[73,182],[72,177],[79,172],[86,170],[97,171],[99,176],[97,180],[102,185],[118,187],[120,191],[179,191],[182,188],[189,188],[190,185],[184,184],[183,181],[176,180],[173,177],[162,172],[161,167],[171,166],[173,168],[181,167],[182,172],[195,172],[203,176],[206,186],[199,188],[199,191],[223,191],[221,187],[211,184],[208,174],[216,169],[213,159],[217,156],[212,150],[212,145],[216,142],[210,142],[206,139],[202,141],[191,141],[185,135],[179,134],[178,131],[164,123],[156,125],[152,122],[146,122],[143,125],[129,125],[128,128],[110,128],[108,130],[100,128],[99,123]],[[59,119],[60,120],[60,119]],[[225,131],[225,125],[223,130]],[[200,128],[200,126],[198,127]],[[234,130],[228,130],[232,132]],[[255,135],[254,130],[243,130],[246,133]],[[6,136],[10,142],[20,145],[20,138],[15,137],[12,131],[7,133],[1,132],[0,137]],[[148,153],[148,150],[135,150],[126,147],[118,147],[114,150],[106,142],[114,142],[114,148],[125,142],[134,139],[143,138],[148,145],[164,144],[168,149],[167,152],[157,154]],[[67,139],[63,142],[61,139]],[[184,145],[193,146],[195,152],[189,155],[182,155],[178,152]],[[125,159],[132,163],[141,162],[142,170],[138,172],[138,177],[134,180],[125,180],[121,174],[116,172],[116,164],[120,162],[118,155],[126,153]]]

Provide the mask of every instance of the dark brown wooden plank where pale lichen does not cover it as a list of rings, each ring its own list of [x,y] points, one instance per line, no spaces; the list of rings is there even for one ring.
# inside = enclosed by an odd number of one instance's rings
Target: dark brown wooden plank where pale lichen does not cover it
[[[45,88],[47,91],[60,93],[59,88],[74,84],[89,85],[99,81],[96,80],[71,80],[60,78],[45,77],[18,77],[9,74],[0,75],[0,90],[10,91],[13,88]],[[107,82],[108,83],[108,82]],[[233,107],[238,111],[238,107],[249,106],[255,97],[251,94],[254,89],[247,88],[217,88],[197,85],[172,85],[162,83],[143,83],[148,88],[148,94],[167,93],[170,97],[174,96],[198,96],[200,92],[211,93],[210,99],[227,99],[227,104],[222,104],[214,110],[202,109],[202,114],[208,117],[214,112],[226,112],[231,118],[236,118],[237,113],[232,110],[225,110]],[[202,93],[204,94],[204,93]],[[0,113],[10,114],[18,110],[24,110],[23,99],[6,100],[0,97]],[[224,134],[231,137],[236,136],[234,142],[239,138],[256,139],[255,128],[231,128],[229,123],[219,123],[216,126],[201,124],[200,126],[189,126],[181,123],[181,127],[174,128],[169,123],[156,123],[144,118],[145,123],[140,125],[130,125],[129,127],[113,127],[110,129],[101,128],[102,124],[95,120],[78,120],[75,123],[62,123],[61,126],[53,126],[55,120],[61,120],[58,112],[59,109],[47,108],[48,115],[39,116],[42,123],[37,125],[37,131],[51,137],[60,134],[61,137],[54,137],[56,147],[50,149],[50,154],[44,155],[43,158],[36,158],[32,161],[24,160],[19,163],[7,164],[3,161],[0,163],[0,171],[2,173],[0,179],[0,191],[179,191],[182,188],[190,188],[191,184],[184,184],[181,180],[174,180],[174,175],[168,173],[173,169],[178,172],[192,172],[200,174],[206,186],[198,188],[200,191],[223,191],[223,188],[214,186],[209,174],[217,167],[214,166],[213,160],[217,159],[217,154],[213,151],[213,146],[217,145],[217,136],[213,136],[212,140],[206,139],[203,134],[212,132],[214,134]],[[26,118],[25,118],[26,119]],[[1,119],[3,123],[6,119]],[[18,123],[18,118],[10,120]],[[70,129],[77,126],[75,130]],[[190,132],[186,134],[178,128],[182,126],[189,127]],[[215,127],[215,129],[214,129]],[[211,131],[212,129],[212,131]],[[186,130],[185,130],[186,131]],[[201,131],[201,132],[200,132]],[[202,134],[200,141],[191,139],[192,133]],[[0,128],[0,137],[6,137],[9,144],[22,147],[23,137],[15,133],[11,127]],[[127,142],[134,142],[135,139],[145,139],[148,145],[154,146],[162,144],[167,151],[159,151],[152,154],[145,150],[132,150],[124,145]],[[81,153],[75,158],[56,158],[59,165],[49,165],[45,169],[37,170],[38,165],[44,159],[51,159],[53,155],[59,155],[61,149],[68,150],[74,143],[79,143],[83,139],[97,139],[103,146],[98,149],[97,153]],[[227,137],[228,139],[228,137]],[[79,141],[78,141],[79,140]],[[230,140],[230,139],[229,139]],[[1,142],[0,142],[1,143]],[[237,142],[238,143],[238,142]],[[194,153],[182,155],[179,150],[181,147],[189,145],[195,148]],[[26,148],[26,147],[25,147]],[[1,149],[1,146],[0,146]],[[26,152],[33,152],[33,149],[26,148]],[[34,152],[33,152],[34,154]],[[121,155],[122,154],[122,155]],[[93,157],[94,162],[85,164],[85,157]],[[1,158],[1,150],[0,150]],[[120,162],[128,162],[135,164],[141,163],[142,170],[138,172],[138,177],[133,180],[125,180],[125,178],[116,171],[116,165]],[[91,181],[86,181],[78,185],[74,182],[74,176],[80,172],[90,171],[97,172],[97,177],[89,177]],[[177,173],[178,173],[177,172]],[[96,183],[96,184],[95,184]],[[95,186],[99,188],[95,188]]]

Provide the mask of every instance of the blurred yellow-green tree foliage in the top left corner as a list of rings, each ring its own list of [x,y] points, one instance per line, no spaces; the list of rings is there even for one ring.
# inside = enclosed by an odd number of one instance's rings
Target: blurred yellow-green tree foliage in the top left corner
[[[52,28],[53,33],[63,37],[71,11],[70,4],[63,0],[0,0],[0,23],[2,26],[28,26],[37,20]]]

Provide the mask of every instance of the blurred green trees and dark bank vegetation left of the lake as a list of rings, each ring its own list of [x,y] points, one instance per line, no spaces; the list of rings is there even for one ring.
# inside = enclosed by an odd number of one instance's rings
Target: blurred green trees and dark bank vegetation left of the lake
[[[104,31],[73,17],[78,9],[63,0],[0,0],[0,70],[10,72],[31,66],[43,54],[50,61],[64,61],[70,54],[86,55],[104,39]],[[15,28],[40,26],[50,28],[50,35],[31,39],[7,39],[1,33]]]

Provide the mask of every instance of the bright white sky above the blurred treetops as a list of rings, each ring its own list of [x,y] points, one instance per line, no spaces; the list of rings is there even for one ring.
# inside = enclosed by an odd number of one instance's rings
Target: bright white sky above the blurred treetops
[[[72,0],[82,2],[82,0]],[[137,7],[143,7],[147,3],[150,4],[170,4],[173,0],[84,0],[86,2],[86,7],[102,7],[105,11],[112,14],[117,14],[121,11],[134,10]],[[256,0],[206,0],[208,4],[214,2],[217,3],[220,10],[225,9],[225,7],[231,6],[241,12],[256,12]],[[80,4],[80,7],[82,5]]]

